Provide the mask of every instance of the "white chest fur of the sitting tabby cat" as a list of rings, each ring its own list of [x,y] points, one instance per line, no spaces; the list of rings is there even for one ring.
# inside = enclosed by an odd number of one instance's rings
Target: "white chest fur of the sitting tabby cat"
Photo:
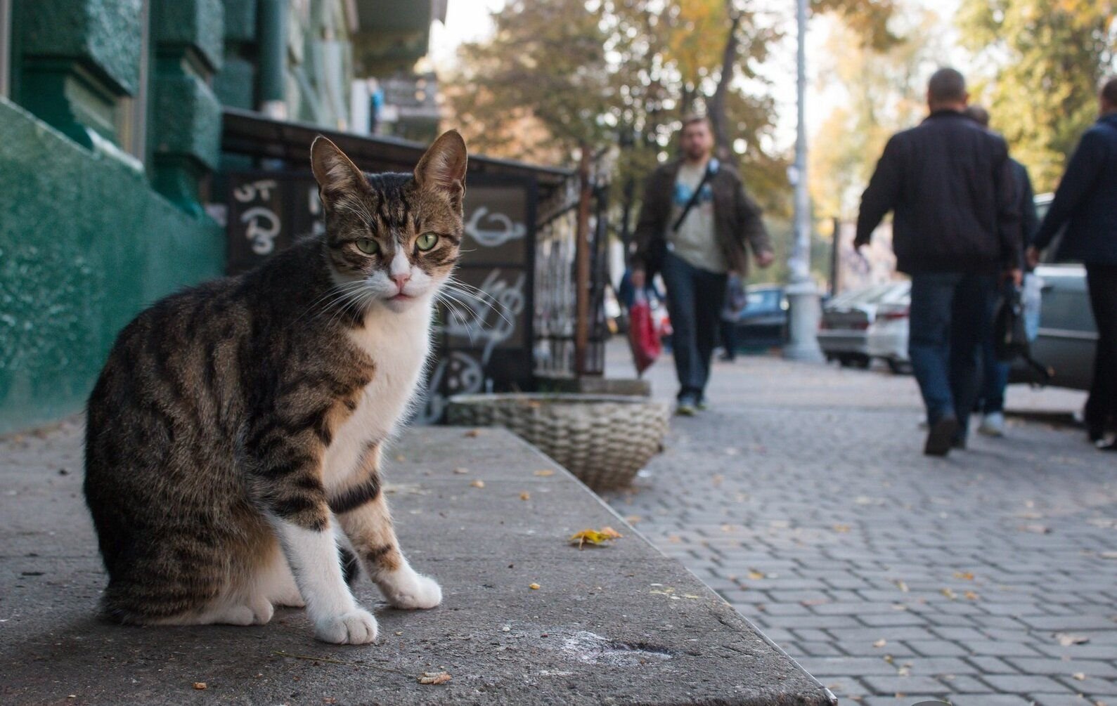
[[[345,484],[369,443],[382,442],[397,430],[430,351],[430,307],[418,303],[402,313],[376,309],[365,318],[364,328],[350,334],[372,359],[373,376],[326,449],[327,489]]]

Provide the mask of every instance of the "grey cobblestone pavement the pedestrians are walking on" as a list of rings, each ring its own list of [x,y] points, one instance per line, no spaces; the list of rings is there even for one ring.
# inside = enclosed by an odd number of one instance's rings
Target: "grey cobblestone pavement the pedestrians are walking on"
[[[632,376],[622,347],[609,359]],[[649,374],[674,394],[669,359]],[[750,356],[710,388],[607,499],[843,704],[1117,705],[1113,455],[1010,418],[1004,439],[924,457],[909,376]]]

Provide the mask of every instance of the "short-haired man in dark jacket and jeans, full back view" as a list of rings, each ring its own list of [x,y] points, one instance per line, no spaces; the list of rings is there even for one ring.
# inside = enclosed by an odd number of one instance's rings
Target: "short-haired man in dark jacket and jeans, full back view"
[[[924,452],[965,447],[997,276],[1020,280],[1022,242],[1004,140],[963,114],[962,74],[935,71],[930,115],[892,135],[861,197],[855,247],[888,211],[897,268],[911,276],[908,353],[927,408]]]

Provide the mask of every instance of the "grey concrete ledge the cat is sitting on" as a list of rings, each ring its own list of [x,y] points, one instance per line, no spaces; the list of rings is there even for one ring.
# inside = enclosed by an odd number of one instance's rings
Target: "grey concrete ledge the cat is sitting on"
[[[315,642],[302,611],[255,628],[98,622],[104,575],[80,458],[74,422],[0,441],[0,702],[833,703],[678,562],[503,430],[422,428],[386,455],[404,551],[441,582],[445,602],[391,610],[362,581],[357,595],[381,628],[366,647]],[[567,545],[604,525],[626,536]],[[418,684],[441,670],[449,683]]]

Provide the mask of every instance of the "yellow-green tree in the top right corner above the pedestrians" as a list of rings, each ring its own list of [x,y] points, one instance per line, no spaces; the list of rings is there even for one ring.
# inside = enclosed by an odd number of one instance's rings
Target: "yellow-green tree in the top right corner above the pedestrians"
[[[986,66],[972,93],[1038,192],[1054,189],[1097,115],[1099,80],[1117,68],[1115,10],[1114,0],[964,0],[958,11],[963,41]]]

